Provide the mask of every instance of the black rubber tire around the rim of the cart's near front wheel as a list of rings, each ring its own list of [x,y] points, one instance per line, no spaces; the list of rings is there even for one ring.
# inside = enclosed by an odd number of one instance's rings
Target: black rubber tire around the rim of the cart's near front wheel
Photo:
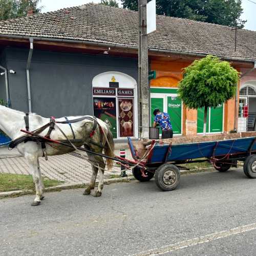
[[[164,173],[167,172],[167,170],[172,170],[176,174],[176,181],[172,185],[167,185],[163,182],[163,176]],[[165,163],[160,165],[155,174],[155,182],[157,186],[162,189],[163,191],[171,191],[174,190],[179,184],[180,184],[180,170],[177,166],[170,163]]]

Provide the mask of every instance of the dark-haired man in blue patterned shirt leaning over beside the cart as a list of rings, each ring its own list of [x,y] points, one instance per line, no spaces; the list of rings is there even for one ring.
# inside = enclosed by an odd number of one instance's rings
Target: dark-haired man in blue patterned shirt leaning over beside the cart
[[[160,112],[159,109],[155,109],[153,112],[155,119],[153,127],[156,127],[158,124],[162,129],[162,139],[173,138],[173,126],[170,123],[170,117],[165,112]]]

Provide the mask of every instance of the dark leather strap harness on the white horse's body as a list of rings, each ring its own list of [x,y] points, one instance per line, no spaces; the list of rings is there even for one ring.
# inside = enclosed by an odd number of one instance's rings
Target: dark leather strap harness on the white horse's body
[[[50,135],[51,135],[52,131],[55,130],[55,123],[69,124],[71,132],[73,134],[73,139],[72,140],[68,139],[68,140],[64,140],[64,141],[65,142],[72,142],[72,143],[73,142],[82,142],[81,139],[76,139],[75,133],[74,133],[74,130],[73,130],[73,127],[72,127],[72,123],[79,122],[79,121],[82,121],[84,119],[88,119],[88,120],[93,121],[93,127],[92,127],[92,131],[90,132],[89,140],[87,142],[84,142],[84,143],[86,144],[87,147],[89,147],[89,144],[94,144],[98,147],[104,148],[104,146],[102,145],[101,142],[96,143],[92,140],[92,137],[95,134],[95,130],[97,128],[97,125],[99,126],[99,130],[100,130],[100,136],[101,136],[100,141],[102,141],[102,135],[103,135],[102,127],[98,123],[95,116],[93,116],[93,117],[83,116],[83,117],[72,119],[72,120],[69,120],[68,117],[65,117],[65,119],[66,119],[65,121],[56,121],[54,117],[51,117],[49,123],[45,124],[44,126],[41,126],[39,129],[37,129],[33,132],[36,133],[36,134],[39,134],[42,131],[44,131],[45,129],[47,129],[47,127],[49,127],[49,130],[48,130],[45,137],[50,139]],[[26,131],[29,131],[29,113],[26,113],[26,115],[24,116],[24,120],[25,120]],[[66,137],[65,133],[63,133],[62,131],[61,131],[61,133]],[[45,140],[41,139],[41,138],[38,138],[36,136],[25,135],[25,136],[19,137],[15,140],[11,141],[11,143],[9,144],[9,148],[14,148],[15,146],[17,146],[17,144],[19,144],[21,142],[26,143],[28,141],[34,141],[34,142],[37,142],[37,143],[41,143],[43,156],[45,157],[46,160],[48,160]]]

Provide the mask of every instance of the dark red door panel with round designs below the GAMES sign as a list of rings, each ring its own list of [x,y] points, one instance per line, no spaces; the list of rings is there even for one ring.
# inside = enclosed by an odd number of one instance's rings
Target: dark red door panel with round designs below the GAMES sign
[[[133,99],[118,98],[119,137],[134,137]]]

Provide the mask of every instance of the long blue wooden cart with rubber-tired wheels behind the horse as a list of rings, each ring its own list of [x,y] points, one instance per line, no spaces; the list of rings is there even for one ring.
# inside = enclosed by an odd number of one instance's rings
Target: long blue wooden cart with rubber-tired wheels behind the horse
[[[139,181],[149,181],[155,176],[156,185],[164,190],[174,190],[180,182],[177,164],[209,161],[219,172],[226,172],[237,161],[244,161],[244,173],[256,178],[256,137],[207,141],[182,144],[159,144],[154,140],[147,148],[144,159],[134,147],[131,138],[128,144],[138,165],[133,168],[133,176]],[[203,158],[203,159],[202,159]]]

